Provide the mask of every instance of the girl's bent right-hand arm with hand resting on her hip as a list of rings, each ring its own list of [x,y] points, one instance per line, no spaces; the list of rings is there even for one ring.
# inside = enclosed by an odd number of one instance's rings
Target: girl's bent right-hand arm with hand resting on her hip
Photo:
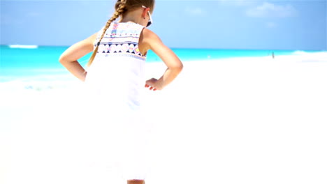
[[[145,84],[145,87],[150,87],[150,90],[161,90],[177,77],[182,71],[183,64],[176,54],[162,43],[159,36],[149,29],[143,29],[142,42],[145,50],[151,49],[167,66],[166,72],[163,73],[160,79],[152,78],[147,80]]]

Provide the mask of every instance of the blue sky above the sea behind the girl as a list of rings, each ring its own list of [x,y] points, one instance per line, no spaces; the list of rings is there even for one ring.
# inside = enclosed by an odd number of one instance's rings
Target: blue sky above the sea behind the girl
[[[1,45],[72,45],[115,1],[3,1]],[[156,1],[150,29],[174,48],[327,50],[327,0]]]

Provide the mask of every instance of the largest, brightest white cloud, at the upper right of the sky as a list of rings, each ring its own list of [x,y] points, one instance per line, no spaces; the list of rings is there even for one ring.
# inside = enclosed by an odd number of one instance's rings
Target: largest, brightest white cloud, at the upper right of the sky
[[[246,11],[249,17],[294,17],[297,14],[298,11],[291,5],[279,6],[268,2]]]

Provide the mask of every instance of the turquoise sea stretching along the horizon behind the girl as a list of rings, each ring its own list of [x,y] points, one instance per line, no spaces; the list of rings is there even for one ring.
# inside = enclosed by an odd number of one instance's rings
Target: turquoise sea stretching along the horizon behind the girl
[[[24,46],[22,46],[24,47]],[[24,47],[15,45],[1,45],[0,54],[0,82],[9,82],[27,77],[37,77],[54,74],[68,74],[61,66],[59,56],[68,46],[37,46]],[[296,50],[260,50],[260,49],[176,49],[173,51],[182,61],[198,61],[212,59],[226,59],[247,56],[275,56],[291,55],[296,52],[319,52],[319,51],[296,51]],[[89,60],[87,54],[78,61],[85,66]],[[153,52],[147,54],[147,62],[161,62]]]

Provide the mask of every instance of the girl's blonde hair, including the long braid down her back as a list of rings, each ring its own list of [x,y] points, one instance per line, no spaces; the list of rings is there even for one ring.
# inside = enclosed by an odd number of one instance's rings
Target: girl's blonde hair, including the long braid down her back
[[[117,2],[115,3],[115,13],[113,13],[112,17],[106,23],[102,35],[98,43],[96,44],[96,48],[94,49],[92,56],[89,58],[89,62],[87,63],[87,66],[91,66],[96,56],[96,52],[98,52],[101,40],[105,35],[107,29],[109,28],[111,22],[116,20],[119,16],[124,17],[124,14],[127,13],[128,11],[134,10],[141,6],[146,6],[147,8],[150,8],[150,13],[152,13],[154,8],[154,0],[117,0]]]

